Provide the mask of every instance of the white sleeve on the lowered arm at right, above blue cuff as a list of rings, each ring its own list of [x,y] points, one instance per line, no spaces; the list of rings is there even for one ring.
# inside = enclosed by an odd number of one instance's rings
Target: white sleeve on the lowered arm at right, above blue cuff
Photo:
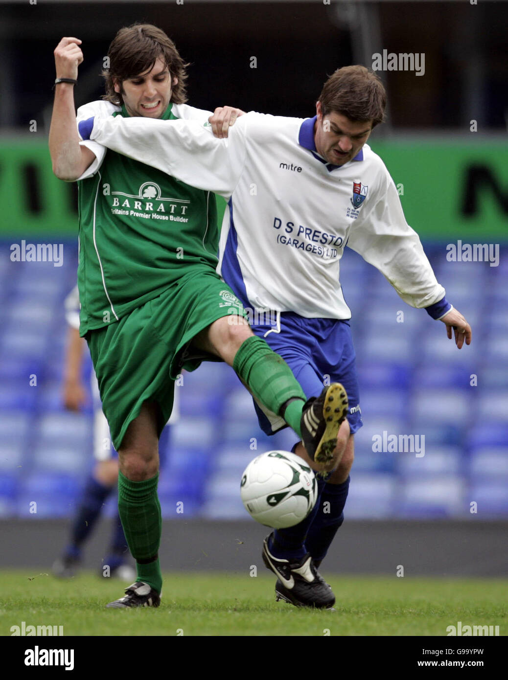
[[[444,297],[445,289],[405,220],[392,177],[383,170],[371,209],[353,222],[347,245],[379,269],[405,303],[428,307]]]

